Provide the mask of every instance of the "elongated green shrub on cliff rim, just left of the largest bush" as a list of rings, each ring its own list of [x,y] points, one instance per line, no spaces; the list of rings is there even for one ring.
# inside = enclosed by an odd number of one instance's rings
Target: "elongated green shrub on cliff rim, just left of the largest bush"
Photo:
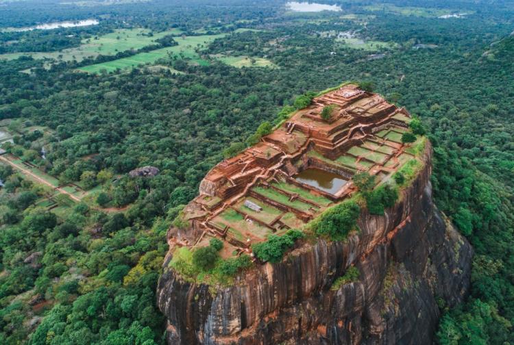
[[[261,261],[279,262],[295,241],[303,237],[304,234],[299,230],[289,230],[282,236],[269,235],[266,242],[254,244],[252,250]]]

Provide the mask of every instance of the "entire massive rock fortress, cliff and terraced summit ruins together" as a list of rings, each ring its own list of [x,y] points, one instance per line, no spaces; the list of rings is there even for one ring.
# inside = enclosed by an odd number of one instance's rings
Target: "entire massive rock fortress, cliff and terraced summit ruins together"
[[[168,232],[158,284],[168,343],[430,344],[439,300],[454,305],[469,288],[472,248],[432,203],[430,142],[404,139],[411,121],[343,84],[212,168]],[[369,194],[397,190],[382,214],[363,200],[363,175]],[[350,200],[356,227],[320,234]],[[303,235],[281,260],[256,255],[291,229]],[[252,264],[226,279],[195,271],[192,253],[213,239],[217,260]]]

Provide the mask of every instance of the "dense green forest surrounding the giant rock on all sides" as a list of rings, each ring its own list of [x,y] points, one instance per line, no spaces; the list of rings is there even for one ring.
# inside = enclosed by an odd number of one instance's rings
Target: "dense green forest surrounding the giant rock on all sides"
[[[440,306],[437,342],[512,342],[510,1],[339,1],[342,12],[319,13],[289,12],[278,0],[70,3],[0,3],[2,28],[99,21],[0,32],[0,135],[10,139],[1,147],[14,164],[0,166],[1,344],[162,344],[156,283],[181,205],[231,143],[298,95],[345,80],[421,117],[435,146],[435,201],[474,246],[471,296]],[[466,15],[439,18],[456,12]],[[197,57],[169,54],[112,73],[77,67],[140,51],[84,61],[36,54],[134,28],[181,32],[146,53],[182,36],[222,36],[191,47]],[[159,174],[128,175],[148,165]]]

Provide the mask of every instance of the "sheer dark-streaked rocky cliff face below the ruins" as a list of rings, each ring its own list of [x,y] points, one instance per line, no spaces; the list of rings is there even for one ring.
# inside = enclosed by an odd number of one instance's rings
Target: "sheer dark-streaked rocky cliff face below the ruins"
[[[439,305],[467,294],[472,247],[432,203],[430,148],[425,161],[384,216],[363,210],[360,233],[299,244],[230,288],[183,281],[169,254],[158,284],[168,344],[430,344]],[[358,281],[332,290],[350,265]]]

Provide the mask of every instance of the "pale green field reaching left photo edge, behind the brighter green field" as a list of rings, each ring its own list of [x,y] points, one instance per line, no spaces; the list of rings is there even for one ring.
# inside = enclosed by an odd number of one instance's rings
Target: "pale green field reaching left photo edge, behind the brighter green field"
[[[18,57],[32,56],[34,59],[53,59],[58,61],[78,62],[86,57],[96,57],[98,55],[115,55],[120,51],[137,50],[150,44],[156,44],[156,40],[167,35],[180,34],[179,29],[152,33],[148,36],[149,29],[118,29],[110,34],[99,36],[97,39],[88,38],[82,40],[79,47],[63,49],[62,51],[52,51],[47,53],[10,53],[0,55],[0,59],[12,60]]]

